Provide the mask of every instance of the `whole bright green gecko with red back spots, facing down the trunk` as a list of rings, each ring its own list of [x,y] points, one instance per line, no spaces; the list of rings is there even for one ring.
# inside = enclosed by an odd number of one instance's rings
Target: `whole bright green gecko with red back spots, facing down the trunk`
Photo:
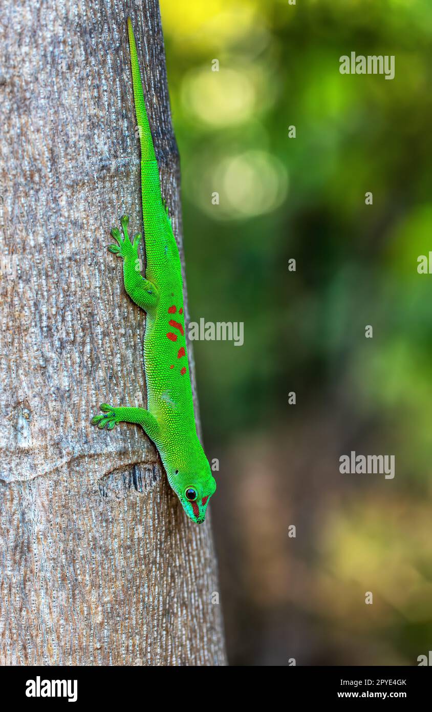
[[[147,410],[102,404],[103,415],[91,423],[111,430],[116,423],[142,426],[159,450],[169,484],[186,514],[201,524],[216,490],[201,443],[196,435],[191,379],[184,335],[183,281],[180,256],[167,209],[162,201],[159,168],[144,103],[137,46],[132,21],[127,18],[132,85],[141,146],[141,194],[147,257],[145,278],[139,272],[141,235],[130,240],[129,218],[121,219],[122,233],[111,231],[117,244],[110,252],[123,259],[125,290],[147,313],[144,368]]]

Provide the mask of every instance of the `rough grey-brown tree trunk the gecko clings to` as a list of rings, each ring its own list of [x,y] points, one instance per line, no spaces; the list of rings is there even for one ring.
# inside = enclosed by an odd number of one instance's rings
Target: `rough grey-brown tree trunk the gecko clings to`
[[[209,520],[186,518],[142,429],[90,426],[146,400],[145,315],[107,251],[123,213],[142,229],[126,18],[0,10],[0,664],[225,664]],[[157,0],[132,22],[181,244]]]

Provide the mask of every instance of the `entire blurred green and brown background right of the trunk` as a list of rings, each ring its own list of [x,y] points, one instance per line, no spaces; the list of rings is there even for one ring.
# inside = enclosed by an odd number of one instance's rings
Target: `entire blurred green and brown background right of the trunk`
[[[416,665],[432,649],[432,4],[160,5],[191,320],[245,329],[241,347],[194,344],[229,661]],[[352,51],[394,55],[394,80],[341,75]],[[393,454],[396,476],[339,473],[350,451]]]

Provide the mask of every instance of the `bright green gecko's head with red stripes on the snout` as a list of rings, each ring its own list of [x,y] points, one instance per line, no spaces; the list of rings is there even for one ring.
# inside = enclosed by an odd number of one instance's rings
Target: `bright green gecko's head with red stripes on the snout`
[[[172,488],[189,519],[202,524],[209,500],[216,490],[216,480],[211,474],[209,462],[206,460],[201,468],[176,469],[172,476]]]

